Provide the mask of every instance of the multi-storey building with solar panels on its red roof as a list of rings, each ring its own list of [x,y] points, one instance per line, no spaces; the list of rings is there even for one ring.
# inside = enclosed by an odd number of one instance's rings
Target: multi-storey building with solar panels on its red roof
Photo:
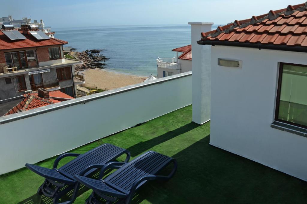
[[[12,27],[2,25],[0,31],[0,101],[38,88],[76,97],[75,85],[85,81],[74,66],[83,62],[64,58],[63,45],[68,42],[28,25],[19,31]]]

